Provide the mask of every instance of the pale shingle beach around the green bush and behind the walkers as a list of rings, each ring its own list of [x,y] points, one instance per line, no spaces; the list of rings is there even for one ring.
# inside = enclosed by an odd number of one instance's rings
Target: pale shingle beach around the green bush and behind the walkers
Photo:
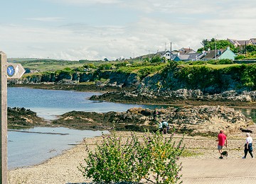
[[[130,136],[130,132],[117,132],[117,135],[122,137],[122,139],[127,139]],[[137,133],[137,135],[140,136],[142,133]],[[164,134],[164,136],[168,137],[169,135]],[[181,134],[176,134],[174,139],[181,139]],[[86,138],[83,142],[74,146],[73,149],[64,151],[63,154],[49,159],[44,163],[8,171],[8,182],[10,184],[89,183],[92,180],[83,178],[82,173],[78,171],[78,166],[80,163],[85,163],[83,159],[87,157],[85,144],[89,146],[90,150],[93,150],[96,146],[95,143],[100,143],[101,140],[102,137]],[[228,150],[228,159],[241,159],[244,143],[244,132],[228,135],[228,148],[226,149]],[[215,137],[185,136],[183,144],[185,144],[189,152],[194,153],[193,156],[181,158],[181,161],[185,163],[195,159],[203,159],[205,161],[218,160],[219,154]],[[186,176],[183,175],[183,178],[186,178]]]

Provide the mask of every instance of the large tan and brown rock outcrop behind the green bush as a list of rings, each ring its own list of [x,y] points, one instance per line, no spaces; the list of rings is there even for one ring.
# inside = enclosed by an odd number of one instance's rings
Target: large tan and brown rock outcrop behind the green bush
[[[70,112],[62,115],[53,124],[83,130],[157,130],[159,121],[166,120],[177,132],[215,135],[220,130],[227,133],[240,132],[252,125],[252,119],[240,111],[224,106],[198,106],[183,108],[160,108],[155,110],[132,108],[124,113]]]

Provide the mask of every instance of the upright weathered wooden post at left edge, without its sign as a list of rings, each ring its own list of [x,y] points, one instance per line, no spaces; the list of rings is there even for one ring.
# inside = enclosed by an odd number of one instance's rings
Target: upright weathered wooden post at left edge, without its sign
[[[1,64],[1,183],[7,183],[7,57],[0,51]]]

